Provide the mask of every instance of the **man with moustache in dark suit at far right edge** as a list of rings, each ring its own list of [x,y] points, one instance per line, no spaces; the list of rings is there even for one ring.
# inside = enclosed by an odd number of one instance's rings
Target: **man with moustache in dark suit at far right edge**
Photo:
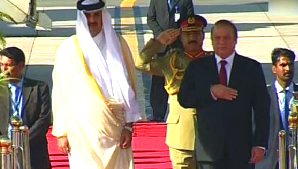
[[[272,72],[276,80],[267,87],[271,98],[268,151],[256,169],[278,169],[278,133],[282,129],[289,132],[290,103],[294,92],[298,91],[298,85],[293,82],[295,57],[293,51],[284,48],[275,48],[271,53]]]

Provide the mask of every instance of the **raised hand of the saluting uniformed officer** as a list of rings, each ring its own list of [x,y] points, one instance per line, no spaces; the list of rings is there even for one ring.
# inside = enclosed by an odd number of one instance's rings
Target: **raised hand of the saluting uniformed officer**
[[[161,32],[156,40],[161,43],[162,45],[170,45],[172,44],[180,34],[179,29],[168,29]]]

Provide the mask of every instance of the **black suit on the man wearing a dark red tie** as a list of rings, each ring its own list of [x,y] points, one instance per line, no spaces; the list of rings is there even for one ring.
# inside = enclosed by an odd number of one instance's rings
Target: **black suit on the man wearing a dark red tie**
[[[178,100],[197,108],[198,139],[210,161],[223,156],[241,163],[250,160],[252,146],[267,147],[270,98],[260,63],[235,54],[228,86],[236,99],[214,100],[210,87],[220,84],[215,56],[191,62],[186,69]],[[256,129],[252,133],[252,109]],[[200,159],[200,157],[198,157]]]

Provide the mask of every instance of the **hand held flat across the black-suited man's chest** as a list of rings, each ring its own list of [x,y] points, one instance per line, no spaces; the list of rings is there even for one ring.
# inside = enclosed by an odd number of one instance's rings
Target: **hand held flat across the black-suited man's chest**
[[[223,84],[211,86],[211,91],[216,98],[232,100],[238,96],[238,91]]]

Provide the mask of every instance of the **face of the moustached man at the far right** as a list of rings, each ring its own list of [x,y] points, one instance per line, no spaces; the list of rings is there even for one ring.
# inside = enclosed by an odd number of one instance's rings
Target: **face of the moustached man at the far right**
[[[272,67],[272,72],[278,82],[290,84],[295,72],[294,62],[287,57],[281,56],[277,64]]]

